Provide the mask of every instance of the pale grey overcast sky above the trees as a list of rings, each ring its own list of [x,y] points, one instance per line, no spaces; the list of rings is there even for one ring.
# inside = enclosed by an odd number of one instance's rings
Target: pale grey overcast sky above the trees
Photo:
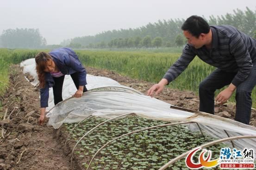
[[[47,44],[105,30],[137,28],[157,20],[256,10],[256,0],[0,0],[5,29],[39,29]]]

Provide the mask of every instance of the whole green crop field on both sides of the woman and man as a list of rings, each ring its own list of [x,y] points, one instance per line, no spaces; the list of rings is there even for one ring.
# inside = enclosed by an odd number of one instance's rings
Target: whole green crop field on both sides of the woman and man
[[[175,49],[177,50],[177,49]],[[9,50],[0,49],[0,96],[8,87],[10,64],[18,64],[22,60],[34,58],[39,51],[50,50]],[[160,51],[81,51],[76,50],[84,66],[115,70],[121,75],[148,82],[159,82],[169,67],[181,53],[160,53]],[[199,83],[215,68],[205,64],[197,57],[187,69],[169,84],[170,88],[191,90],[198,93]],[[216,94],[219,90],[216,91]],[[234,95],[230,101],[234,100]],[[253,107],[256,107],[256,90],[252,92]]]

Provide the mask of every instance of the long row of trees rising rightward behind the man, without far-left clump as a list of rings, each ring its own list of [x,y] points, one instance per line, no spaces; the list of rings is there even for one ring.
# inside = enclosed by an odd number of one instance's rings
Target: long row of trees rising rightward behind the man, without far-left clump
[[[71,45],[75,47],[158,47],[153,43],[157,37],[158,40],[162,39],[160,47],[167,46],[180,46],[179,42],[183,42],[181,35],[181,25],[184,19],[170,19],[158,20],[156,23],[148,23],[136,29],[119,29],[112,31],[104,31],[95,36],[75,37],[71,40],[62,42],[64,45]],[[235,26],[237,29],[244,33],[255,36],[256,31],[256,11],[250,10],[246,7],[245,11],[234,10],[233,13],[227,13],[214,17],[213,15],[206,19],[210,25],[229,24]],[[144,44],[143,41],[138,43],[138,39],[143,40],[146,37],[151,38],[151,45]],[[183,37],[183,36],[182,36]],[[149,38],[147,38],[149,39]],[[178,39],[178,40],[177,40]],[[67,44],[67,42],[69,42]]]

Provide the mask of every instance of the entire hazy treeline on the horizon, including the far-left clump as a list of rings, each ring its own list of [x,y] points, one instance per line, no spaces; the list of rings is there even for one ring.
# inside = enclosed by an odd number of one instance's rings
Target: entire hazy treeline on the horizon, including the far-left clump
[[[256,11],[246,7],[224,16],[210,16],[210,25],[233,25],[244,33],[256,38]],[[0,35],[0,47],[5,48],[149,48],[180,47],[186,43],[181,25],[185,19],[158,20],[136,29],[104,31],[94,36],[75,37],[62,41],[59,45],[46,45],[39,29],[6,29]]]

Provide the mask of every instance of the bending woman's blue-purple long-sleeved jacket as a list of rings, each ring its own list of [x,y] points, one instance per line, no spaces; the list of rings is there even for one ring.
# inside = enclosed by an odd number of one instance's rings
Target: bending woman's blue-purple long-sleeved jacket
[[[70,48],[57,48],[49,53],[64,75],[78,73],[79,86],[84,86],[86,82],[86,70],[82,66],[76,53]],[[40,89],[40,104],[42,107],[48,107],[49,88],[54,86],[54,80],[50,73],[45,73],[45,85]]]

